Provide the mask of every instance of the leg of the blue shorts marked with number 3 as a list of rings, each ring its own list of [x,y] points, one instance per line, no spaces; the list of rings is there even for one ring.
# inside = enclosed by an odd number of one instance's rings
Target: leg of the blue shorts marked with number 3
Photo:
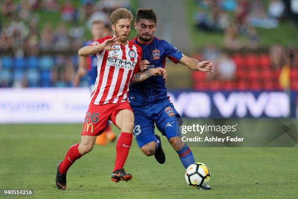
[[[145,145],[150,147],[148,144],[156,140],[154,136],[154,120],[148,116],[135,113],[133,135],[140,148]]]

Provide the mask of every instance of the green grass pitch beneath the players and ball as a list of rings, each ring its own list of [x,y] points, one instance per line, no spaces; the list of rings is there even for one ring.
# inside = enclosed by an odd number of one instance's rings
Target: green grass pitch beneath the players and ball
[[[298,197],[298,148],[193,147],[196,161],[211,171],[213,189],[199,191],[186,184],[185,169],[165,138],[163,165],[143,155],[133,141],[125,165],[133,178],[117,184],[110,181],[115,143],[95,145],[70,168],[67,189],[60,191],[55,186],[56,164],[79,141],[81,129],[81,124],[0,125],[0,189],[33,189],[28,198],[36,199]]]

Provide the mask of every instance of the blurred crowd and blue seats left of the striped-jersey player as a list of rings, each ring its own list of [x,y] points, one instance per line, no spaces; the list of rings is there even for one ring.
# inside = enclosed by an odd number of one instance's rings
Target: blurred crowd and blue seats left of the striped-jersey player
[[[85,35],[93,20],[110,27],[112,11],[130,7],[129,0],[76,4],[72,0],[0,1],[0,87],[72,86],[76,53],[92,39]]]

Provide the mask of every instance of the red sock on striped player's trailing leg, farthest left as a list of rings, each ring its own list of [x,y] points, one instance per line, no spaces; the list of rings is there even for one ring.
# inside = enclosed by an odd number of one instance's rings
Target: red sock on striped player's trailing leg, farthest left
[[[65,158],[61,162],[59,166],[59,172],[61,174],[66,174],[68,171],[69,167],[75,162],[75,160],[81,158],[82,155],[78,151],[78,143],[72,145],[69,149],[68,152],[65,155]]]

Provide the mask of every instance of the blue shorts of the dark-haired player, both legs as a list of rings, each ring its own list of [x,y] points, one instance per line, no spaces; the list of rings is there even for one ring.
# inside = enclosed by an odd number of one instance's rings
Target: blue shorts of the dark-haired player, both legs
[[[140,148],[156,140],[154,123],[167,139],[181,136],[179,125],[182,119],[168,98],[148,105],[131,106],[131,108],[134,113],[133,135]]]

